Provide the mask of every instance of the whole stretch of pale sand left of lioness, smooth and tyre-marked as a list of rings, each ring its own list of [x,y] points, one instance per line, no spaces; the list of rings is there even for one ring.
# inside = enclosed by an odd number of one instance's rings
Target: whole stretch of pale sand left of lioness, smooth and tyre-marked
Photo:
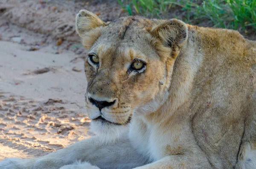
[[[90,137],[83,59],[0,41],[0,160],[41,156]]]

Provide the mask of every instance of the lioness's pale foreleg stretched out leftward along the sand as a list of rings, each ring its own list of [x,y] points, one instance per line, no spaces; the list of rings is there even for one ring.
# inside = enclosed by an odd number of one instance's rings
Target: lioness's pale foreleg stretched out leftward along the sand
[[[0,169],[59,169],[75,161],[87,161],[101,169],[127,169],[147,163],[125,135],[116,143],[102,143],[98,137],[91,137],[37,159],[6,159],[0,162]]]

